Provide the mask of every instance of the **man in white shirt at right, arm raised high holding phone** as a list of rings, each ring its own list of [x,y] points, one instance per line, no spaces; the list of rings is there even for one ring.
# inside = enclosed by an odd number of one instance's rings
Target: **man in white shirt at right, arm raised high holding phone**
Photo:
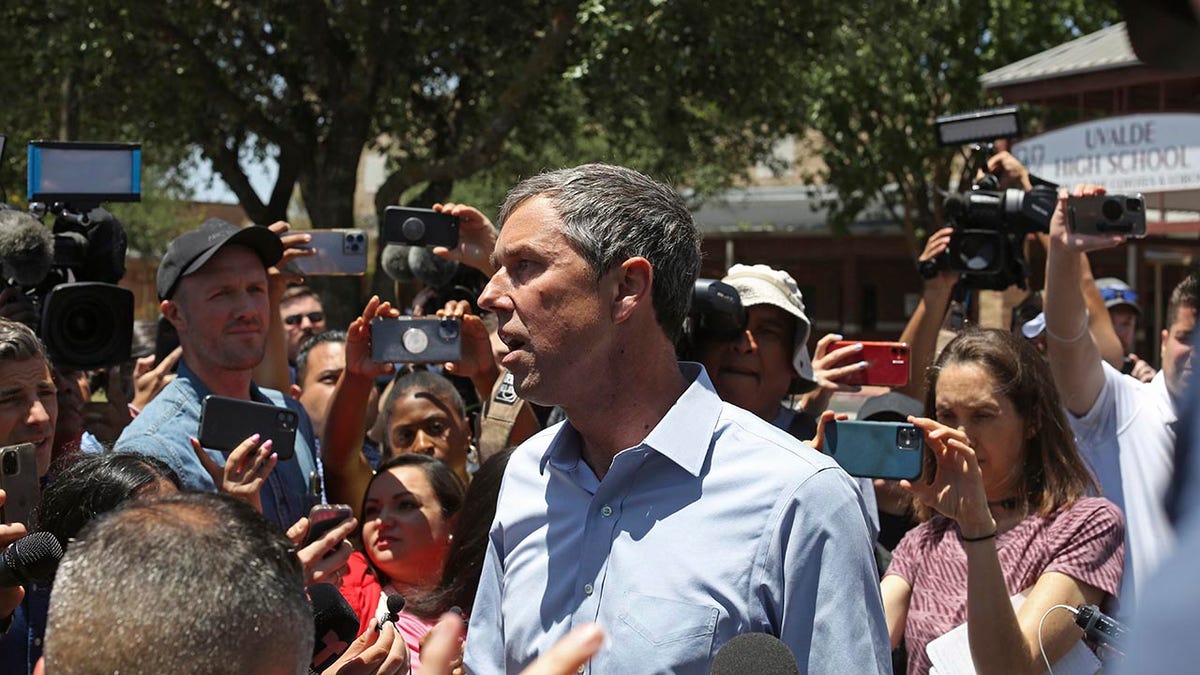
[[[1078,185],[1072,196],[1103,195]],[[1175,471],[1174,423],[1192,376],[1192,333],[1200,307],[1200,280],[1189,275],[1171,292],[1162,334],[1163,370],[1150,383],[1122,375],[1100,358],[1090,330],[1080,289],[1080,253],[1115,246],[1122,235],[1085,235],[1068,231],[1068,193],[1060,191],[1050,222],[1046,261],[1046,342],[1055,384],[1070,412],[1068,420],[1080,450],[1096,472],[1103,494],[1124,510],[1126,562],[1121,586],[1128,609],[1174,545],[1164,495]],[[1104,311],[1104,310],[1102,310]]]

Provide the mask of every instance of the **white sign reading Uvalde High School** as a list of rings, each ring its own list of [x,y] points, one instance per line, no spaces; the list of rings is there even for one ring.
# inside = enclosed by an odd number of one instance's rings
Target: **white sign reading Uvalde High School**
[[[1030,173],[1109,192],[1200,189],[1200,115],[1148,114],[1087,121],[1013,145]]]

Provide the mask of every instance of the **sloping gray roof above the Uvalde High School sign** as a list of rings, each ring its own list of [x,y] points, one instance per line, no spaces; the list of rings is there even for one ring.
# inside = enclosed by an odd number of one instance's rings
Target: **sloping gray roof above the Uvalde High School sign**
[[[1141,65],[1124,22],[984,73],[984,89]]]

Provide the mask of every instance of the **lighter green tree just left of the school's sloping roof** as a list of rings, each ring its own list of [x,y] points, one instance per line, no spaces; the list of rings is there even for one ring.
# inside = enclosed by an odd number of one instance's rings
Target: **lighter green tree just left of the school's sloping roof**
[[[809,123],[822,137],[814,151],[826,165],[810,178],[836,187],[834,227],[882,203],[900,215],[916,259],[918,237],[944,222],[938,190],[961,167],[937,145],[934,118],[996,104],[979,76],[1114,20],[1112,6],[1085,0],[863,4],[805,73]]]

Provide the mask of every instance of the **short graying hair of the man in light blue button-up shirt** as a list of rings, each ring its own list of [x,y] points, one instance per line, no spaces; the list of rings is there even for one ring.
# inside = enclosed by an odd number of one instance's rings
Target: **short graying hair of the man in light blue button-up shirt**
[[[700,275],[700,229],[679,193],[632,169],[583,165],[521,181],[500,208],[500,227],[539,196],[550,199],[563,234],[598,280],[631,257],[650,262],[654,315],[678,341]]]

